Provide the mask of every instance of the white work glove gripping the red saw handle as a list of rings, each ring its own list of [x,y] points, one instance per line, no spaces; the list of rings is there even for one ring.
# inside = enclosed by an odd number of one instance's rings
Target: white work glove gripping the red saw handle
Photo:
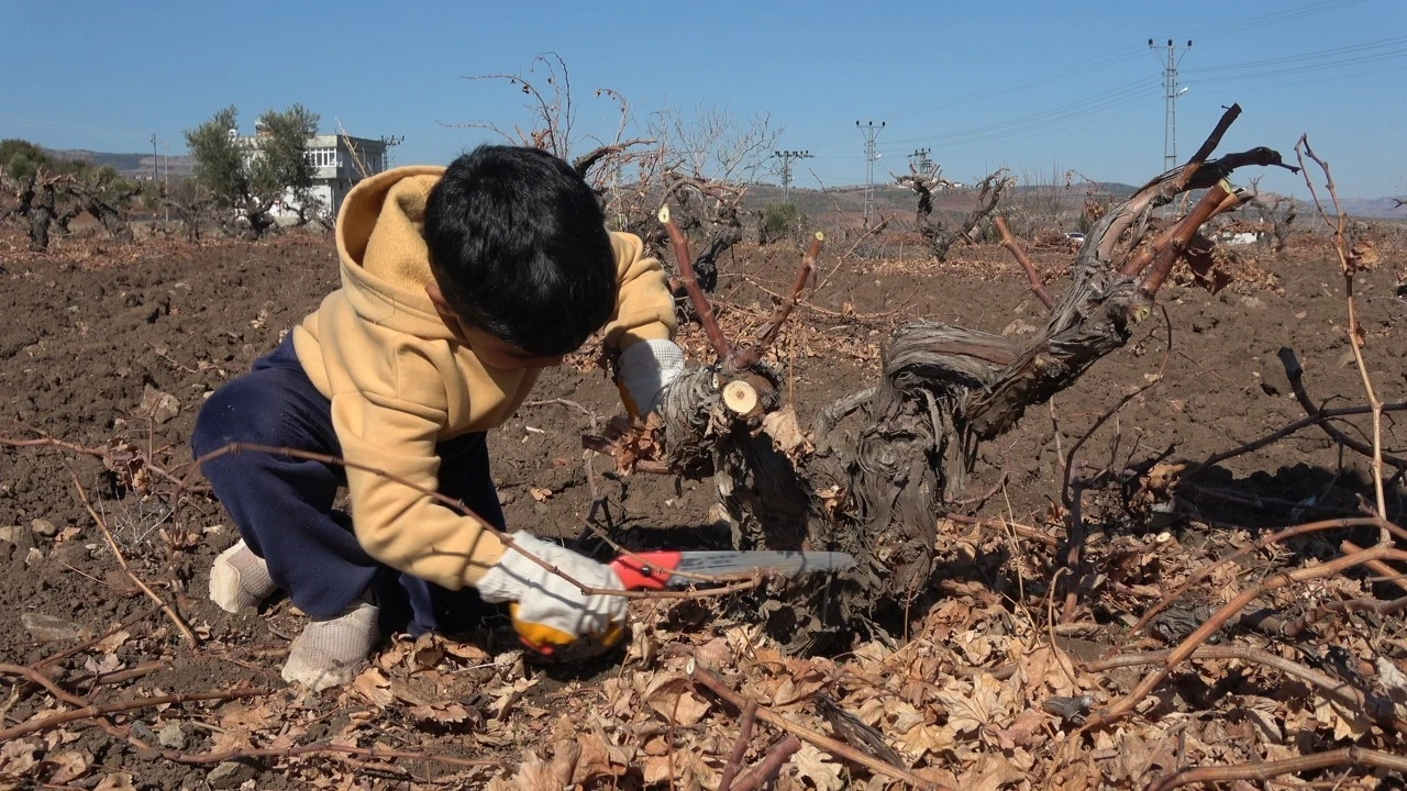
[[[587,587],[623,588],[609,566],[521,531],[512,535],[512,540],[516,548],[546,560],[549,566]],[[476,587],[484,601],[514,602],[509,607],[514,629],[528,647],[539,653],[552,656],[560,647],[575,645],[580,650],[573,654],[584,657],[609,649],[625,638],[625,597],[587,595],[512,546]]]

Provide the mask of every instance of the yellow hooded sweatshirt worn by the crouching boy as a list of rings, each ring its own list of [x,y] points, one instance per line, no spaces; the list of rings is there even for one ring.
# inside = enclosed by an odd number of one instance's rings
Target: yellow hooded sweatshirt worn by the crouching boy
[[[504,546],[477,517],[463,517],[395,476],[435,491],[436,443],[501,425],[523,403],[537,370],[485,366],[459,343],[425,294],[433,281],[422,238],[425,200],[443,167],[397,167],[352,190],[338,215],[342,289],[293,331],[312,384],[332,401],[348,466],[352,522],[367,555],[438,586],[474,584]],[[642,242],[612,234],[619,291],[605,325],[615,349],[673,338],[674,300]],[[552,317],[542,317],[552,321]]]

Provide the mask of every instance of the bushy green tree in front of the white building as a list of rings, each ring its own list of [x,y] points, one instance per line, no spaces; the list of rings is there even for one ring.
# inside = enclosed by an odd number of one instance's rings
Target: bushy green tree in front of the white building
[[[238,137],[239,111],[231,106],[186,131],[196,160],[194,179],[215,208],[243,217],[249,234],[262,236],[274,225],[270,211],[286,196],[304,210],[312,203],[312,163],[308,138],[318,115],[301,104],[259,117],[253,138]]]

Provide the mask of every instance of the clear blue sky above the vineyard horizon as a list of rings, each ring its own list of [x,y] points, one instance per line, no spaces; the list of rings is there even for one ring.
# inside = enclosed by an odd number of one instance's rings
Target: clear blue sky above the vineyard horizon
[[[0,0],[0,138],[52,148],[172,152],[235,104],[248,132],[298,101],[353,135],[405,135],[397,163],[445,163],[492,139],[453,124],[530,122],[523,97],[467,75],[525,72],[557,52],[577,128],[608,134],[611,87],[637,113],[770,114],[779,148],[809,149],[795,183],[862,183],[855,121],[884,121],[877,179],[930,148],[944,175],[998,166],[1041,180],[1075,169],[1138,183],[1162,169],[1159,52],[1179,46],[1178,153],[1223,104],[1245,113],[1223,151],[1292,156],[1309,132],[1344,197],[1407,194],[1407,3],[1006,0],[940,3]],[[587,144],[584,144],[587,145]],[[1303,194],[1271,172],[1262,189]]]

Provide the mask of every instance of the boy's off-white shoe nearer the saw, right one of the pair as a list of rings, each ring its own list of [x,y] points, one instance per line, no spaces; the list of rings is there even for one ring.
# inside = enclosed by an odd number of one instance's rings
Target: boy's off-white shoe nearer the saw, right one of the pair
[[[381,636],[378,612],[374,604],[359,601],[336,618],[304,626],[288,649],[283,680],[321,692],[356,678],[356,666],[371,656]]]

